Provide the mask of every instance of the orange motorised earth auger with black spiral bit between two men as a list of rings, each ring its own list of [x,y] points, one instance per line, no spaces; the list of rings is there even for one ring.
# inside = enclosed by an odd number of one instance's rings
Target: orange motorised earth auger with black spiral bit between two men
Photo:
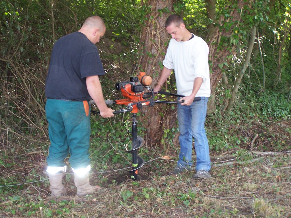
[[[127,171],[132,173],[132,179],[138,181],[140,177],[138,175],[138,169],[141,168],[145,161],[143,158],[137,155],[137,149],[145,144],[145,140],[137,135],[137,122],[136,113],[142,106],[150,105],[153,106],[155,103],[182,103],[182,101],[154,101],[154,92],[150,84],[152,78],[146,76],[145,72],[140,72],[137,77],[130,77],[130,81],[116,83],[116,90],[120,91],[125,99],[118,99],[115,101],[106,100],[105,103],[126,105],[127,107],[123,110],[114,111],[113,114],[132,112],[132,148],[127,151],[132,153],[132,169]],[[148,90],[149,92],[144,92]],[[172,95],[177,97],[184,97],[183,95],[172,94],[169,92],[159,91],[159,94]],[[199,101],[200,97],[196,97],[194,101]],[[91,110],[92,113],[100,114],[98,111]]]

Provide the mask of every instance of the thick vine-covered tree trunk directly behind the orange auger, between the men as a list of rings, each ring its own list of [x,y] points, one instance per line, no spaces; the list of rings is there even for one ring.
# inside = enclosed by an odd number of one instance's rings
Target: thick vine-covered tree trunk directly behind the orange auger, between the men
[[[173,9],[172,0],[148,0],[142,1],[148,10],[147,19],[141,33],[141,42],[143,42],[139,60],[140,69],[147,75],[152,77],[152,87],[155,86],[159,79],[159,74],[162,68],[162,61],[167,51],[169,35],[164,28],[166,19]],[[168,10],[164,10],[164,9]],[[168,13],[162,12],[168,11]],[[175,125],[172,110],[165,110],[163,116],[160,115],[162,105],[154,107],[145,107],[143,112],[146,112],[145,124],[147,124],[147,142],[154,145],[160,144],[164,129],[170,129]]]

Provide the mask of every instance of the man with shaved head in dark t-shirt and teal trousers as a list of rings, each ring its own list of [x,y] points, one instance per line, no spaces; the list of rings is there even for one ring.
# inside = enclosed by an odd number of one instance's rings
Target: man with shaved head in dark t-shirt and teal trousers
[[[77,195],[84,196],[100,189],[89,183],[90,104],[93,99],[104,118],[113,117],[105,104],[99,76],[104,75],[95,46],[106,31],[98,16],[88,17],[81,29],[65,35],[54,44],[47,74],[45,94],[49,123],[49,155],[47,173],[52,196],[63,196],[66,171],[64,158],[70,152]]]

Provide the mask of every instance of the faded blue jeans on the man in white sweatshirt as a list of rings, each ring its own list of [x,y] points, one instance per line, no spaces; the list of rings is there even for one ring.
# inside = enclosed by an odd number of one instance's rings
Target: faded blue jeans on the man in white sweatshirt
[[[194,101],[190,106],[178,104],[179,142],[180,154],[178,166],[190,167],[192,165],[192,137],[197,156],[196,170],[210,171],[209,145],[204,128],[207,111],[207,97]]]

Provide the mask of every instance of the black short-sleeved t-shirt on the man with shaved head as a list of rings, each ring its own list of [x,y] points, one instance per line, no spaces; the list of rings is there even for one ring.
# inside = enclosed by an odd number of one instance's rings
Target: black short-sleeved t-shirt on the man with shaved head
[[[45,84],[47,98],[90,100],[86,77],[104,75],[99,52],[86,35],[74,32],[54,44]]]

